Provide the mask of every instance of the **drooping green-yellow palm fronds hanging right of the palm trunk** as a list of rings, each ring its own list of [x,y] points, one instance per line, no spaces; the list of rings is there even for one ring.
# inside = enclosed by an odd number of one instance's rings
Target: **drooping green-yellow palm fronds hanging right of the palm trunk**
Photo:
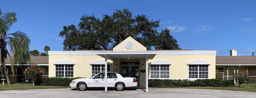
[[[10,55],[12,59],[12,64],[26,64],[30,62],[29,56],[29,37],[20,31],[16,33],[11,33],[12,37],[9,37],[9,47],[10,47]]]

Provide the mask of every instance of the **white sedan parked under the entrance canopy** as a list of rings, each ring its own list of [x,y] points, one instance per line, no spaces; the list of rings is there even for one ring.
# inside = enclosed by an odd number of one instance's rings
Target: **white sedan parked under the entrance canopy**
[[[105,72],[98,73],[90,78],[74,79],[70,87],[86,90],[87,87],[105,87]],[[122,77],[119,73],[108,72],[108,87],[115,87],[116,90],[122,91],[125,87],[137,87],[138,82],[135,78]]]

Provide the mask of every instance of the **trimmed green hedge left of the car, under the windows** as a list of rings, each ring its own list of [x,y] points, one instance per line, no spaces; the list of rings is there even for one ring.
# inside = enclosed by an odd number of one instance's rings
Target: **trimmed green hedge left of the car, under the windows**
[[[79,78],[81,77],[77,77],[77,78],[45,77],[42,79],[40,85],[67,87],[69,86],[69,84],[73,79],[79,79]]]

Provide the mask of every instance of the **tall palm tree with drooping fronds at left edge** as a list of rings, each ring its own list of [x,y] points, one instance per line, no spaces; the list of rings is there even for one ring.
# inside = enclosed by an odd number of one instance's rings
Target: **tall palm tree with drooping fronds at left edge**
[[[17,21],[15,12],[8,12],[2,15],[0,9],[0,56],[1,56],[1,72],[4,73],[7,83],[10,83],[7,74],[5,60],[9,56],[11,59],[11,68],[14,74],[13,64],[25,64],[30,61],[29,57],[29,37],[21,32],[7,33],[13,23]],[[9,49],[7,49],[9,46]]]

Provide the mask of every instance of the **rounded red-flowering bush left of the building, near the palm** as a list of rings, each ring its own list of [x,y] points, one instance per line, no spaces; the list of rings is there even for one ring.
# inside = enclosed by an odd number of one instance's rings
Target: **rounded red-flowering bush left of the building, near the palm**
[[[33,86],[35,86],[35,81],[40,81],[40,76],[44,74],[44,70],[41,66],[34,64],[30,67],[28,66],[23,74],[26,75],[28,79],[31,79]]]

